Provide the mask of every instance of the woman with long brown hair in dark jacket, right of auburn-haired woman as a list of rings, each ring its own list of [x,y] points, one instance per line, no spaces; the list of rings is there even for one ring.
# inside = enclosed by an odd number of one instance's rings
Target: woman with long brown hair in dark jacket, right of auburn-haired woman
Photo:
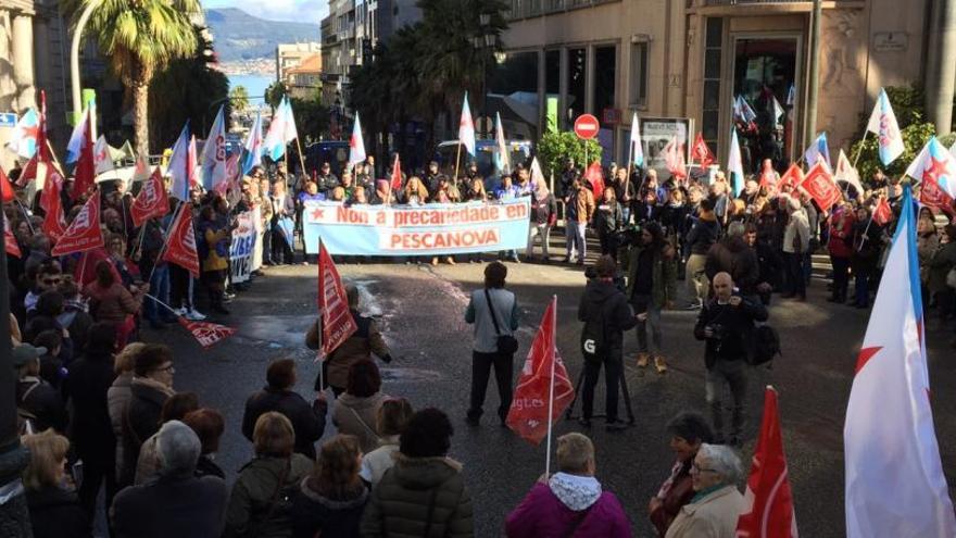
[[[318,462],[292,498],[292,538],[358,538],[368,489],[358,477],[358,438],[339,434],[322,446]]]

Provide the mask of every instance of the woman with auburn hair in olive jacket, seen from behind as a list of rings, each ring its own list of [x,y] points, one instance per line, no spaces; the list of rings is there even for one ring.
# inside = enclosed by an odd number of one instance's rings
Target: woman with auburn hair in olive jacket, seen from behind
[[[293,452],[292,423],[275,411],[255,421],[252,442],[255,456],[242,467],[232,486],[223,536],[289,536],[292,520],[281,493],[309,475],[312,460]]]

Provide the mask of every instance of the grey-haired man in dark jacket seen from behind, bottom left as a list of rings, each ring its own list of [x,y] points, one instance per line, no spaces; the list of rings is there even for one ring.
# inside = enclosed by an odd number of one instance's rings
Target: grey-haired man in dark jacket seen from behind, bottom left
[[[221,536],[229,491],[213,476],[194,476],[202,446],[192,429],[169,421],[160,429],[160,477],[124,489],[113,502],[116,538]]]

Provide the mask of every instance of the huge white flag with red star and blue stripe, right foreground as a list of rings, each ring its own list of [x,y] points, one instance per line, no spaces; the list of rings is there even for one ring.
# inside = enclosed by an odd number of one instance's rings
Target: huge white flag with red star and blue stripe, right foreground
[[[846,536],[956,536],[930,406],[909,186],[882,281],[843,427]]]

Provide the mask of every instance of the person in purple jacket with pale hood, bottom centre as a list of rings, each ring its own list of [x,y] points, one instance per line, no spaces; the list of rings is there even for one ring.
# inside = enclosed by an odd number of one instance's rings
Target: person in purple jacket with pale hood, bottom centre
[[[510,538],[630,538],[631,527],[617,497],[594,478],[594,445],[581,434],[557,438],[557,468],[531,488],[507,516]]]

